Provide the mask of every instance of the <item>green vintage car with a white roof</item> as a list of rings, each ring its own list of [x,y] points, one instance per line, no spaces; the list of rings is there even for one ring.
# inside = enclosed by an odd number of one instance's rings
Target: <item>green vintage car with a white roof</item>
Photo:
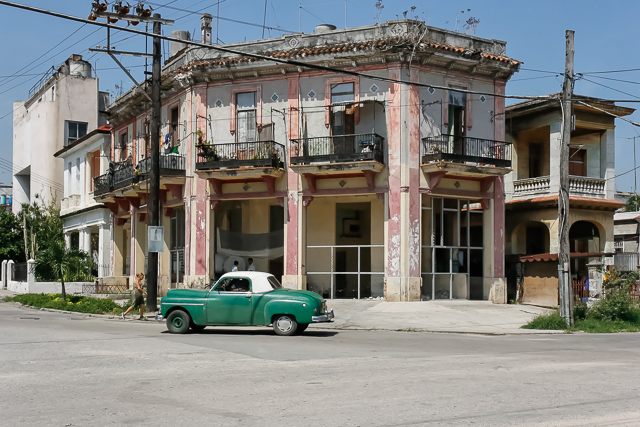
[[[315,292],[285,289],[272,274],[227,273],[208,289],[172,289],[160,313],[174,334],[207,326],[268,326],[278,335],[302,333],[310,323],[332,322],[333,310]]]

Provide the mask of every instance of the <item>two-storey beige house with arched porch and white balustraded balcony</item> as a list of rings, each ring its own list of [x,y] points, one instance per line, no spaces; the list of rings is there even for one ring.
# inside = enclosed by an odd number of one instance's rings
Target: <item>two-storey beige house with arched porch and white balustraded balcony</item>
[[[557,100],[535,100],[507,107],[506,128],[513,142],[513,172],[505,178],[506,254],[513,261],[510,296],[515,298],[515,267],[524,261],[525,302],[557,305],[559,152],[562,128]],[[571,274],[588,276],[591,290],[601,259],[613,262],[615,200],[615,117],[633,113],[605,99],[574,96],[609,114],[574,103],[575,129],[569,152],[569,240]],[[553,288],[555,286],[555,289]],[[544,302],[544,303],[543,303]]]

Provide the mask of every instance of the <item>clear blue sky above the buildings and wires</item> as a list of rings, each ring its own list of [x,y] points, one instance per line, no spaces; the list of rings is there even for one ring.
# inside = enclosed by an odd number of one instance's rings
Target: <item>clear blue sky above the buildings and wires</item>
[[[91,0],[18,0],[43,9],[87,17]],[[110,2],[112,3],[112,2]],[[137,0],[130,0],[135,4]],[[345,0],[155,0],[146,1],[163,18],[174,19],[172,30],[195,32],[200,36],[200,15],[214,16],[213,37],[221,43],[277,37],[287,32],[310,33],[319,23],[345,26]],[[166,5],[161,7],[161,5]],[[266,6],[266,7],[265,7]],[[575,33],[575,72],[585,74],[575,84],[580,95],[640,101],[640,59],[637,40],[640,26],[637,0],[382,0],[381,21],[401,18],[404,11],[418,16],[428,25],[464,32],[463,23],[470,17],[480,22],[476,36],[507,42],[507,55],[523,61],[522,69],[507,83],[509,95],[544,95],[562,90],[565,30]],[[415,6],[415,12],[411,7]],[[183,11],[172,9],[178,8]],[[266,14],[265,14],[266,9]],[[197,12],[197,13],[188,13]],[[376,0],[346,0],[346,23],[349,27],[375,23]],[[242,21],[242,22],[238,22]],[[263,22],[267,27],[263,29]],[[219,28],[217,28],[219,25]],[[137,29],[144,29],[141,25]],[[88,49],[104,45],[106,30],[50,16],[0,5],[0,158],[12,161],[13,102],[26,100],[29,89],[51,66],[58,66],[71,54],[81,54],[97,70],[100,88],[116,95],[132,83],[116,69],[104,54]],[[118,50],[144,51],[145,39],[124,32],[112,35]],[[634,46],[636,46],[634,48]],[[168,49],[168,45],[166,46]],[[122,57],[137,80],[143,80],[144,59]],[[622,70],[633,70],[623,71]],[[534,71],[537,70],[537,71]],[[541,72],[543,71],[543,72]],[[615,80],[612,80],[615,79]],[[622,81],[621,81],[622,80]],[[507,101],[512,103],[515,101]],[[621,103],[640,108],[640,103]],[[640,122],[640,113],[627,117]],[[634,140],[640,144],[640,128],[616,120],[616,188],[634,191]],[[640,160],[640,147],[638,147]],[[640,165],[640,161],[637,163]],[[14,165],[19,167],[22,165]],[[640,173],[640,169],[638,170]],[[640,179],[639,179],[640,180]],[[11,184],[8,167],[0,166],[0,184]]]

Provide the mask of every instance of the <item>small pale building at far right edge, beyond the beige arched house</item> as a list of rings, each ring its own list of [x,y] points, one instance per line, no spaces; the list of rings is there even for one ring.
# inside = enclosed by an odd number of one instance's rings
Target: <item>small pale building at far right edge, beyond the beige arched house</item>
[[[640,222],[640,212],[619,212],[613,217],[614,242],[614,264],[620,271],[632,271],[640,265],[640,233],[638,232],[638,222]]]

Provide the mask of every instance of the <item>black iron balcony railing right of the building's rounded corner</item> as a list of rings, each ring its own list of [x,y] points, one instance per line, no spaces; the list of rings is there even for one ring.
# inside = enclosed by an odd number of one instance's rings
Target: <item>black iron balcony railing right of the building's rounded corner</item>
[[[422,163],[446,160],[511,167],[512,144],[492,139],[442,134],[422,139]]]

